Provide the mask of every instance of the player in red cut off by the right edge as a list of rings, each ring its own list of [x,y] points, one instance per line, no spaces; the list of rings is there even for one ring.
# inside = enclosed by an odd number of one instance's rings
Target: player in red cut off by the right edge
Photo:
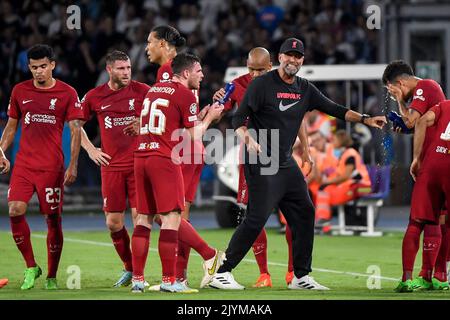
[[[428,130],[432,127],[436,134],[425,149]],[[450,204],[449,168],[450,101],[446,100],[430,108],[415,126],[414,156],[410,172],[416,181],[413,197],[420,197],[420,202],[411,212],[416,219],[438,223],[440,209],[445,202],[447,206]],[[417,249],[414,256],[416,253]],[[448,282],[443,280],[445,277],[446,270],[438,270],[436,266],[432,279],[434,290],[449,290]]]

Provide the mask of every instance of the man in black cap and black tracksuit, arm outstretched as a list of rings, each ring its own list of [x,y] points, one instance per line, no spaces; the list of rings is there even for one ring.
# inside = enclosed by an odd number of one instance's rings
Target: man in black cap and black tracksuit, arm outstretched
[[[244,289],[234,280],[231,270],[244,258],[272,209],[279,207],[291,227],[293,239],[295,275],[288,288],[328,289],[309,276],[314,240],[314,206],[305,179],[292,157],[292,146],[297,137],[302,140],[304,130],[300,125],[305,113],[312,109],[376,128],[382,128],[386,119],[384,116],[370,117],[348,110],[326,98],[306,79],[297,77],[303,55],[304,47],[300,40],[285,40],[278,55],[280,67],[250,83],[233,117],[233,127],[246,145],[245,159],[256,160],[256,163],[246,161],[244,164],[249,191],[247,216],[234,232],[226,251],[226,260],[209,283],[210,287]],[[245,126],[247,118],[248,129]],[[261,129],[264,131],[260,132]],[[278,134],[279,139],[272,144],[273,134]],[[272,156],[268,168],[265,159]],[[311,162],[308,157],[309,154],[305,160]]]

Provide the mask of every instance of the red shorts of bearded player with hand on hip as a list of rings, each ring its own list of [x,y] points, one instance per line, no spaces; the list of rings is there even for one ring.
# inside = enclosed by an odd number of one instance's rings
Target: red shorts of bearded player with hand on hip
[[[134,169],[126,171],[102,171],[103,211],[123,212],[127,208],[136,208],[136,188]]]

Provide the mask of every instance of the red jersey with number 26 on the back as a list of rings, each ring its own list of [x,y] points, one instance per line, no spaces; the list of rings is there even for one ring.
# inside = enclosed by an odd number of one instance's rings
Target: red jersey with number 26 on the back
[[[179,163],[179,153],[172,157],[172,150],[183,138],[177,136],[172,140],[172,134],[193,127],[198,109],[194,94],[182,84],[171,81],[155,84],[142,105],[135,156],[158,155]]]

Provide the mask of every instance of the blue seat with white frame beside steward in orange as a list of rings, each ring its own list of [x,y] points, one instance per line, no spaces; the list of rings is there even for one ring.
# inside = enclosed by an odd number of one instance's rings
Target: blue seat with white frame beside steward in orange
[[[383,233],[375,231],[376,213],[383,206],[384,200],[389,196],[389,186],[391,183],[390,166],[367,166],[370,180],[372,182],[372,193],[365,195],[357,200],[346,203],[345,205],[354,205],[357,208],[367,208],[367,221],[365,226],[348,226],[345,223],[344,205],[338,206],[338,226],[339,235],[353,235],[354,231],[363,231],[361,236],[379,237]]]

